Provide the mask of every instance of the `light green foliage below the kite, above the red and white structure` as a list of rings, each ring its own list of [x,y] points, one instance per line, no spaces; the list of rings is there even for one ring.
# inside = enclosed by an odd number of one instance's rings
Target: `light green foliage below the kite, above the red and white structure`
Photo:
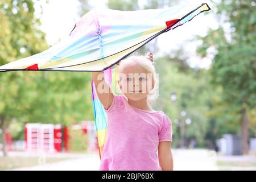
[[[43,72],[27,88],[31,98],[27,120],[62,123],[93,119],[90,75],[83,72]]]

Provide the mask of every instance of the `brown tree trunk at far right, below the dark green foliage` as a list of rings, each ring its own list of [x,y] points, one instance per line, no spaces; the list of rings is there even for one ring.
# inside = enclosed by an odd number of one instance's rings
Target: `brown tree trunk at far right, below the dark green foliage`
[[[247,117],[246,109],[243,109],[242,110],[242,150],[243,150],[243,155],[248,154],[248,139],[249,139],[248,123],[249,123],[249,119]]]

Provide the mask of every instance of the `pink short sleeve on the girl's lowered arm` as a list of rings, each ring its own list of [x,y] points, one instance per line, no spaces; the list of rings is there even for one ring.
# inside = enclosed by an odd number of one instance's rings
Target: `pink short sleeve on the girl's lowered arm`
[[[159,132],[159,142],[168,141],[172,142],[172,123],[171,120],[164,115],[162,129]]]

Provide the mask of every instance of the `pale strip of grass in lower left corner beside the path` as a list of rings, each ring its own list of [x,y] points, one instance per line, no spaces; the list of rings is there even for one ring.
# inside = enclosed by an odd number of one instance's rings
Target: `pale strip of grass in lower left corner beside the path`
[[[9,170],[21,167],[31,167],[40,164],[56,163],[71,158],[40,158],[40,157],[0,157],[0,170]]]

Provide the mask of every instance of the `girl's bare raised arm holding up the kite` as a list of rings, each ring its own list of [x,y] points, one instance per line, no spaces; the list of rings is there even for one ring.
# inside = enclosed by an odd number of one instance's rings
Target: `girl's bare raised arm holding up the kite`
[[[97,96],[105,109],[109,109],[113,101],[113,93],[104,79],[104,72],[91,72],[92,79],[96,88]]]

